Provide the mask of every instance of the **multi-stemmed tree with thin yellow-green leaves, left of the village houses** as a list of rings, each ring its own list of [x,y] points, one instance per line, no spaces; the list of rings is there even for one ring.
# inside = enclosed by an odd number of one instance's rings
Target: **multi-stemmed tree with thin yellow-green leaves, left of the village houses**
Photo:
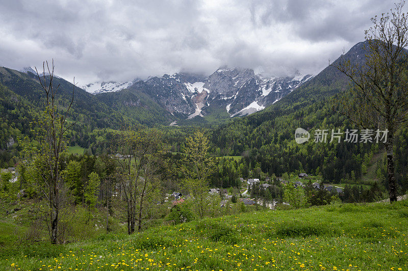
[[[167,147],[155,129],[127,129],[118,140],[119,180],[126,199],[127,233],[140,231],[153,215],[160,195],[161,172]]]

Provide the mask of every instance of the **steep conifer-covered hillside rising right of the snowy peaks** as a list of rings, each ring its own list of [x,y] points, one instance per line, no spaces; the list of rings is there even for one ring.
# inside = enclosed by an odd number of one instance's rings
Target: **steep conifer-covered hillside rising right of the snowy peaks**
[[[344,57],[352,63],[362,63],[364,45],[365,42],[356,44]],[[235,119],[210,131],[214,152],[219,155],[243,154],[250,169],[259,165],[263,172],[277,176],[285,172],[305,171],[321,174],[325,180],[335,182],[359,179],[362,173],[366,173],[373,154],[383,153],[383,147],[381,144],[354,144],[343,140],[340,143],[329,143],[331,129],[345,132],[347,129],[359,128],[351,125],[339,113],[337,101],[348,87],[345,75],[335,67],[328,66],[264,111]],[[302,145],[294,141],[294,131],[298,127],[308,130],[312,136]],[[327,143],[314,143],[316,129],[328,129]],[[406,189],[406,151],[401,151],[401,148],[406,150],[408,146],[407,130],[402,129],[399,134],[397,179]],[[379,179],[387,186],[384,163],[378,163],[377,167]]]

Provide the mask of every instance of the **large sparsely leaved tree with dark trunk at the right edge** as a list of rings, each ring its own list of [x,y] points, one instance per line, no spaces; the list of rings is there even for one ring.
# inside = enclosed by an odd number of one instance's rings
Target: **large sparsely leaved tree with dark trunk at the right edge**
[[[342,99],[342,113],[354,124],[369,129],[388,129],[384,143],[390,201],[397,200],[394,176],[394,137],[402,123],[408,121],[408,25],[402,12],[404,2],[390,13],[371,18],[373,26],[366,31],[368,51],[363,64],[342,59],[332,66],[352,82],[351,93]]]

